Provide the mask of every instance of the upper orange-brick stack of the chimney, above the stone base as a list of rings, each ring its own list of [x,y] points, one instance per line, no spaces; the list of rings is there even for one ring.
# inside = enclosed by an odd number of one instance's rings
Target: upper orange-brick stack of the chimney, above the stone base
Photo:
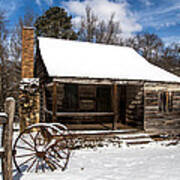
[[[22,29],[21,77],[34,77],[34,28],[32,27]]]

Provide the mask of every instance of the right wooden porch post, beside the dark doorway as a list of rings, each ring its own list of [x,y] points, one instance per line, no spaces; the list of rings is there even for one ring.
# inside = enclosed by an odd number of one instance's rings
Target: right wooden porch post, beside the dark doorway
[[[113,130],[117,129],[117,121],[119,119],[119,106],[118,106],[118,85],[116,83],[113,84],[112,87],[112,104],[113,104],[113,112],[114,112],[114,119],[113,119]]]

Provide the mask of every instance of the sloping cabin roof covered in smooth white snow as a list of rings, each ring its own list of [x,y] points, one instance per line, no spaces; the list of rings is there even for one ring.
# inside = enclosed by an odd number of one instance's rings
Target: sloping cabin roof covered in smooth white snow
[[[49,76],[180,82],[129,47],[39,37]]]

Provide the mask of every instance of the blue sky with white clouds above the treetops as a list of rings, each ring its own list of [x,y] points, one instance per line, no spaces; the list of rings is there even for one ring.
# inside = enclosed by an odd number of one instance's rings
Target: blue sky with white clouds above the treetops
[[[101,20],[108,21],[110,15],[115,13],[115,20],[120,22],[124,37],[150,32],[167,44],[180,43],[180,0],[0,0],[0,9],[6,11],[11,28],[27,10],[41,15],[50,6],[66,8],[78,27],[87,5]]]

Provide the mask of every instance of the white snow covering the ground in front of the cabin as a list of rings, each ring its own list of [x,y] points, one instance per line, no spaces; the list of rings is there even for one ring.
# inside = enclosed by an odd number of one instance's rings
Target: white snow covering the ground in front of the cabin
[[[169,143],[169,142],[168,142]],[[72,152],[64,172],[20,175],[14,180],[179,180],[180,144],[165,142],[121,147],[109,145]]]

